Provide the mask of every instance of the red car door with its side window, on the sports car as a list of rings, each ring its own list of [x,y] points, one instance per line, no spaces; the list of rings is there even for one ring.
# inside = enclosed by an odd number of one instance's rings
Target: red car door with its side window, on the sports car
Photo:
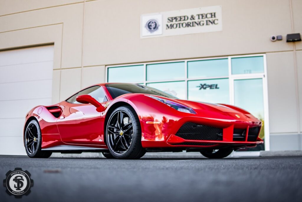
[[[92,104],[82,104],[76,101],[79,95],[88,94],[100,103],[107,101],[102,86],[92,86],[73,95],[66,100],[62,115],[57,120],[57,126],[63,142],[68,144],[104,144],[103,121],[101,113]]]

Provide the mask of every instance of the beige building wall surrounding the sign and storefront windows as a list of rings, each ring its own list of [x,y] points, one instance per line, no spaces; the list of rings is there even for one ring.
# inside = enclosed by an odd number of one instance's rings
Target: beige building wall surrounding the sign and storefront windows
[[[141,14],[213,5],[223,31],[140,38]],[[0,50],[54,44],[53,103],[104,82],[106,65],[266,53],[271,148],[287,135],[284,148],[301,149],[302,43],[286,43],[302,33],[301,10],[301,0],[0,0]]]

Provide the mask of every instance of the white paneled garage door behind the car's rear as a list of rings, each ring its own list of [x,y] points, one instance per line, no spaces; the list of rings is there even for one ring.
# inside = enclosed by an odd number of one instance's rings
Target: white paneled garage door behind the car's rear
[[[26,155],[26,113],[50,105],[53,45],[0,51],[0,154]]]

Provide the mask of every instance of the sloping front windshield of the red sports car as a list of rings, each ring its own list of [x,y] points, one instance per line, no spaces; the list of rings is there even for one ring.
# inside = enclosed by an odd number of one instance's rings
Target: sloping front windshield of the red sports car
[[[166,98],[178,99],[170,94],[167,94],[163,91],[157,90],[155,88],[151,88],[149,86],[144,86],[140,84],[105,84],[111,97],[117,98],[120,95],[127,94],[127,93],[143,93],[143,94],[152,94],[152,95],[159,95]]]

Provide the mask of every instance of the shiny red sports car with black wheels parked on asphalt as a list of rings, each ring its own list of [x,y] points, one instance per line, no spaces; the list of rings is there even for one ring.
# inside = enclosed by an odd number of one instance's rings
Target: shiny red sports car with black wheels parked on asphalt
[[[263,144],[261,124],[235,106],[179,100],[140,84],[105,83],[29,111],[24,146],[29,157],[39,158],[89,151],[137,159],[146,152],[184,150],[223,158]]]

